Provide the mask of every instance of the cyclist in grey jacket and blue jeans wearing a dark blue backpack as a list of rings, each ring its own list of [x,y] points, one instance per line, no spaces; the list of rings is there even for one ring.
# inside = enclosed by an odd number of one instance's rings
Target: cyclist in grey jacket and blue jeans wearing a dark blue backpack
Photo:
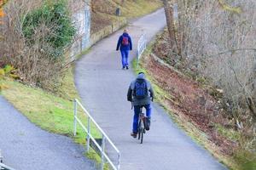
[[[128,89],[127,100],[132,102],[134,106],[134,116],[132,123],[132,132],[131,136],[137,137],[137,125],[139,119],[140,108],[144,107],[146,109],[147,123],[148,127],[146,130],[149,130],[150,118],[151,118],[151,100],[154,99],[154,91],[151,87],[150,82],[145,77],[143,72],[139,72],[136,80],[131,82],[131,85]]]

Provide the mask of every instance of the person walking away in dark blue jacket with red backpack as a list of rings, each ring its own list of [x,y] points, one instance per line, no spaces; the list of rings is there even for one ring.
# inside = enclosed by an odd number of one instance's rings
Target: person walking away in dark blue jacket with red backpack
[[[119,37],[116,50],[120,50],[122,68],[129,69],[129,51],[132,50],[132,42],[127,30],[124,30],[123,34]]]

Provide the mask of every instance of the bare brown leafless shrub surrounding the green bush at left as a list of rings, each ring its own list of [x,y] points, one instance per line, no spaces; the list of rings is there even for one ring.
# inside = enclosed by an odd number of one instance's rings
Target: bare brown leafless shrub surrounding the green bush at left
[[[14,65],[18,69],[20,79],[32,86],[38,86],[48,90],[55,90],[63,70],[69,65],[63,57],[50,57],[55,47],[51,46],[46,35],[54,35],[52,23],[50,26],[42,22],[37,26],[30,37],[32,43],[27,42],[22,26],[25,17],[33,8],[37,8],[41,0],[13,0],[5,8],[5,18],[1,32],[0,62]],[[68,47],[67,47],[68,48]]]

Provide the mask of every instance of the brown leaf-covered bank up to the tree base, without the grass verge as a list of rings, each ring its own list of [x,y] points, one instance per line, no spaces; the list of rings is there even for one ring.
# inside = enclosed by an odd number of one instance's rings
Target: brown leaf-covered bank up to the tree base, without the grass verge
[[[221,154],[232,155],[236,141],[219,133],[218,127],[233,128],[234,125],[224,115],[218,99],[210,94],[209,90],[212,89],[202,87],[199,82],[181,73],[182,70],[174,69],[178,59],[166,59],[169,56],[166,51],[168,44],[162,37],[158,39],[160,42],[154,44],[152,54],[145,56],[142,63],[155,84],[166,93],[160,94],[161,104],[177,117],[185,118],[202,133],[206,133],[207,139]]]

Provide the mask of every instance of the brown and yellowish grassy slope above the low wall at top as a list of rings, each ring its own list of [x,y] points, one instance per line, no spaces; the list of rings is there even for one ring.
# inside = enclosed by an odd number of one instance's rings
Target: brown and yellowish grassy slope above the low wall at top
[[[92,0],[91,3],[92,33],[110,25],[113,21],[120,20],[120,18],[136,18],[162,7],[160,0]],[[115,15],[116,8],[120,8],[120,17]]]

